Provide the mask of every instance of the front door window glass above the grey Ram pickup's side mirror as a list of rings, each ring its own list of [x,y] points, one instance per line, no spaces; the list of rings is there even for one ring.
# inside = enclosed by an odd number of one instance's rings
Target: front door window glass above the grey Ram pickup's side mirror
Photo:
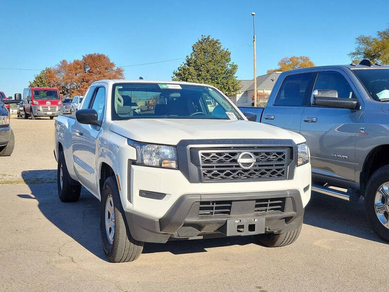
[[[346,78],[335,71],[319,72],[314,90],[336,90],[339,98],[354,98],[354,91]]]

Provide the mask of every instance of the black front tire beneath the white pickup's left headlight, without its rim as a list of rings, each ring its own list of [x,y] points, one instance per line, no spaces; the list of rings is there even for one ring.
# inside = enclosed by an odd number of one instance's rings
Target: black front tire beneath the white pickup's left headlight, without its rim
[[[112,198],[114,210],[113,242],[108,241],[106,234],[106,201]],[[110,176],[104,183],[100,201],[100,231],[103,250],[109,261],[114,263],[136,260],[142,253],[143,242],[132,238],[125,220],[118,185],[114,176]]]

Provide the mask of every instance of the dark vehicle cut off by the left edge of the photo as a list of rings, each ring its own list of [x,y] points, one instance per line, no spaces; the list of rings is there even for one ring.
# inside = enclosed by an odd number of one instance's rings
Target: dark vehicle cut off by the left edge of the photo
[[[15,137],[10,126],[9,111],[0,98],[0,156],[10,156],[14,151]]]

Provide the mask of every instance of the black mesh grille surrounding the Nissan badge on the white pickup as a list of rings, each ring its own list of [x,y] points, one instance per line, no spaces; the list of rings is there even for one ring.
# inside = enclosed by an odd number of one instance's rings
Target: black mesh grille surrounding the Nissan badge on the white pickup
[[[251,166],[238,163],[238,157],[243,152],[251,153],[255,159]],[[199,156],[203,182],[284,180],[290,149],[260,147],[209,149],[200,150]]]

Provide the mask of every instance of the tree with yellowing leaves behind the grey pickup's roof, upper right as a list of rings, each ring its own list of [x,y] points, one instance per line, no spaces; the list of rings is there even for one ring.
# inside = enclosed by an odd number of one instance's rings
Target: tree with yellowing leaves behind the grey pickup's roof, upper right
[[[356,37],[355,44],[355,51],[349,54],[354,62],[369,59],[375,63],[389,64],[389,28],[378,31],[376,37]]]

